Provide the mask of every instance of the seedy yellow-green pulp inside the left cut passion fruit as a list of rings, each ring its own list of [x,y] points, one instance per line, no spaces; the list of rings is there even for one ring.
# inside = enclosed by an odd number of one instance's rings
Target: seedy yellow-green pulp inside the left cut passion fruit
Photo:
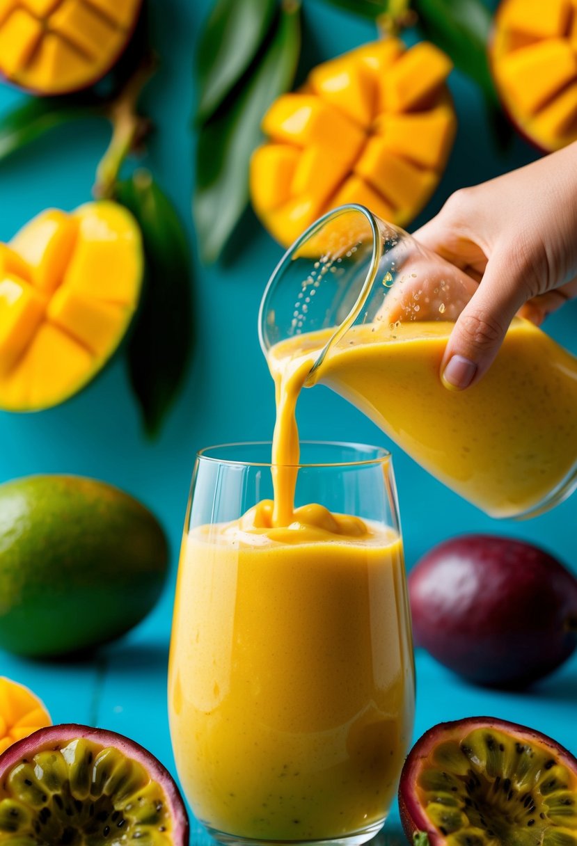
[[[73,739],[22,759],[0,784],[7,846],[171,846],[166,796],[146,768],[113,747]]]

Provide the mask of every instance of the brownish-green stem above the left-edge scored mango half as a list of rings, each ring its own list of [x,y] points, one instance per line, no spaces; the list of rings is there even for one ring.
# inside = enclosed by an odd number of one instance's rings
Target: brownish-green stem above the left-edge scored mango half
[[[156,56],[153,52],[147,52],[122,91],[107,106],[106,115],[113,124],[113,135],[96,168],[92,193],[97,200],[113,197],[124,159],[151,130],[149,118],[138,112],[138,101],[156,69]]]

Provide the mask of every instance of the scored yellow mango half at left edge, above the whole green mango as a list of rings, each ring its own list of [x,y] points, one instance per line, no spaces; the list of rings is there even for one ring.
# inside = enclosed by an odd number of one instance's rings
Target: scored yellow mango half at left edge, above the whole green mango
[[[0,244],[0,409],[62,403],[102,369],[140,299],[140,229],[99,201],[43,211]]]

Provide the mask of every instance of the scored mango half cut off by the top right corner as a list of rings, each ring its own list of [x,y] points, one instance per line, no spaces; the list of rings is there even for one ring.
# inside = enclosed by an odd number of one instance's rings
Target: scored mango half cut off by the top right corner
[[[491,44],[503,106],[550,152],[577,140],[577,0],[503,0]]]

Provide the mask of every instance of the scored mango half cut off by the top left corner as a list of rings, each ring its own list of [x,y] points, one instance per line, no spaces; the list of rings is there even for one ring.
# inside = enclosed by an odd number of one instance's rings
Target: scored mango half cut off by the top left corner
[[[36,94],[64,94],[106,74],[141,0],[0,0],[0,73]]]

